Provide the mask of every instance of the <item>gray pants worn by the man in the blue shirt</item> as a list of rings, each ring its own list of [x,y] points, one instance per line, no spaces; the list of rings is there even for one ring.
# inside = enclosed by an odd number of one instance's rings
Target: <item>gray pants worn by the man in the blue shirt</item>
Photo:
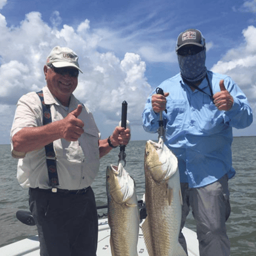
[[[181,229],[191,207],[196,220],[200,256],[229,256],[230,241],[226,234],[226,221],[230,215],[227,175],[201,188],[188,188],[188,183],[181,183],[181,192]],[[187,252],[182,232],[179,242]]]

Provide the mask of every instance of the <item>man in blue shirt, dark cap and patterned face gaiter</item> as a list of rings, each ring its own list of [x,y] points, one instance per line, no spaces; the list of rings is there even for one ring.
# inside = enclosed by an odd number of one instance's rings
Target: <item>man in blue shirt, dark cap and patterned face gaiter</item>
[[[165,144],[179,161],[182,222],[192,207],[201,256],[228,256],[226,220],[230,215],[228,179],[232,167],[232,127],[253,121],[246,96],[227,75],[205,67],[205,39],[199,30],[186,30],[177,39],[180,74],[161,83],[164,95],[149,96],[142,114],[143,127],[158,131],[163,112]],[[179,241],[186,249],[182,232]]]

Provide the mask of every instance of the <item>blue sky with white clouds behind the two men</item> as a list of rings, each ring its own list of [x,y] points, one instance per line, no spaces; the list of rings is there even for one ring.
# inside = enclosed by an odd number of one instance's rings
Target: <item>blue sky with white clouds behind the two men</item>
[[[201,30],[207,68],[230,75],[255,112],[255,0],[0,0],[0,144],[9,144],[18,98],[45,85],[43,65],[56,45],[79,56],[84,73],[75,96],[93,111],[102,138],[126,100],[132,139],[156,139],[140,116],[151,91],[179,73],[175,43],[187,28]],[[255,131],[254,122],[234,135]]]

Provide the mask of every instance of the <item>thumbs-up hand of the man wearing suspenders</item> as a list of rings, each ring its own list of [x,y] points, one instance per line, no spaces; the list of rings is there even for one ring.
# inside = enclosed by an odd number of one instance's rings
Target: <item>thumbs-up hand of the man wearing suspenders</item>
[[[75,110],[70,112],[68,116],[61,120],[61,134],[63,139],[76,141],[83,134],[84,123],[77,118],[81,114],[82,110],[83,106],[79,104]]]

